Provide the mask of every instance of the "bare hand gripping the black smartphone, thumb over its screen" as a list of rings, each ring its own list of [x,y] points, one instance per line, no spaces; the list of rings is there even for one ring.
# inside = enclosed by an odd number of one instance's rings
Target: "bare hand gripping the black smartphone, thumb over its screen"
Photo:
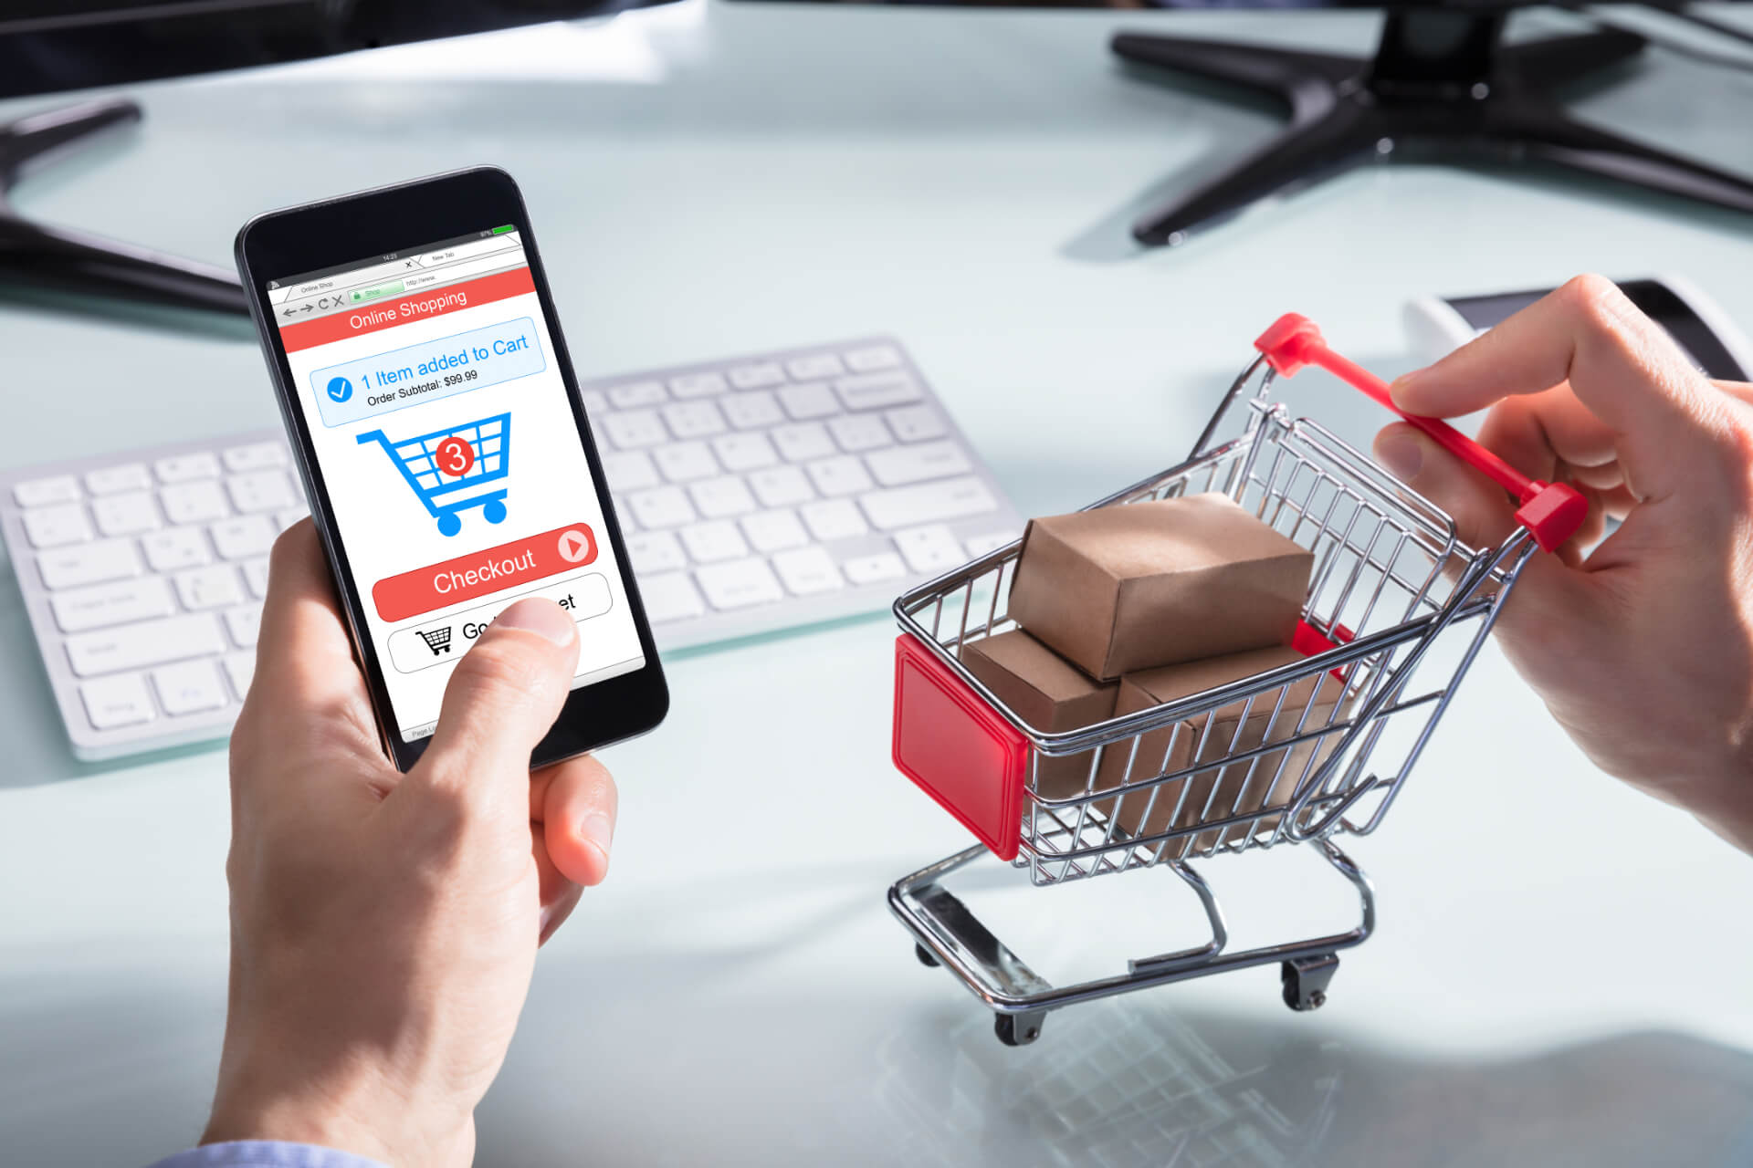
[[[452,672],[433,746],[384,756],[310,524],[275,545],[231,735],[231,993],[207,1142],[466,1164],[535,951],[608,872],[615,783],[529,774],[578,625],[510,606]]]

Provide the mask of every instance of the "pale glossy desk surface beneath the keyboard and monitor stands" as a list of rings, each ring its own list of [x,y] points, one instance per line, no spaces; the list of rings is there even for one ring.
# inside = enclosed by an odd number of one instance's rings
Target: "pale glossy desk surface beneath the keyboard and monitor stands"
[[[1117,68],[1110,30],[1152,25],[1364,49],[1374,18],[691,0],[138,86],[138,130],[18,201],[228,263],[266,207],[498,163],[580,373],[892,329],[1026,513],[1182,457],[1283,310],[1383,371],[1423,291],[1676,270],[1753,319],[1749,221],[1562,179],[1378,168],[1136,252],[1134,207],[1273,130]],[[1655,54],[1583,105],[1753,172],[1746,74]],[[0,464],[273,424],[247,329],[135,315],[7,294]],[[1336,383],[1302,392],[1367,438]],[[670,662],[670,721],[610,751],[614,874],[538,963],[479,1163],[1753,1161],[1753,860],[1593,772],[1495,650],[1353,848],[1381,928],[1324,1010],[1250,970],[1013,1051],[884,907],[964,844],[889,765],[891,639],[876,616]],[[196,1136],[217,1059],[226,756],[81,765],[9,581],[0,644],[0,1161],[138,1164]],[[1243,944],[1348,909],[1308,853],[1206,872]],[[962,886],[1050,979],[1196,923],[1167,874]]]

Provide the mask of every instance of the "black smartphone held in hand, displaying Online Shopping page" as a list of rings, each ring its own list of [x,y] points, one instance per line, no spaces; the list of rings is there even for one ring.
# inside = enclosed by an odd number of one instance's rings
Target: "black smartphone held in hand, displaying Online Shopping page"
[[[396,767],[431,741],[458,658],[531,595],[566,608],[580,644],[533,767],[663,721],[663,665],[510,175],[268,212],[238,231],[237,266]]]

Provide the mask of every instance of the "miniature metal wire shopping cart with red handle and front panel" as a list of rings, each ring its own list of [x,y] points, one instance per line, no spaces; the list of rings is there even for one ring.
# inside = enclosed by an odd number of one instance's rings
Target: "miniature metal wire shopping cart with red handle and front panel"
[[[1586,517],[1571,487],[1523,478],[1443,422],[1406,419],[1520,503],[1522,527],[1502,545],[1469,548],[1444,511],[1271,398],[1278,376],[1315,364],[1392,408],[1380,378],[1334,354],[1295,315],[1273,324],[1255,348],[1187,462],[1094,506],[1220,490],[1308,548],[1315,567],[1294,639],[1304,660],[1045,734],[959,660],[961,646],[1015,627],[1006,597],[1020,541],[896,601],[896,765],[982,842],[898,881],[889,907],[920,961],[948,968],[996,1012],[1008,1045],[1033,1042],[1047,1012],[1075,1002],[1255,965],[1280,965],[1292,1009],[1322,1005],[1338,953],[1362,944],[1376,919],[1369,877],[1336,837],[1381,825],[1522,567],[1536,546],[1564,545]],[[1218,440],[1250,385],[1241,433]],[[1259,727],[1255,714],[1269,728],[1250,742],[1243,727]],[[1192,862],[1294,844],[1313,844],[1350,881],[1360,923],[1227,951],[1217,895]],[[1027,870],[1033,884],[1164,865],[1192,888],[1211,935],[1129,961],[1111,977],[1054,986],[943,886],[987,851]]]

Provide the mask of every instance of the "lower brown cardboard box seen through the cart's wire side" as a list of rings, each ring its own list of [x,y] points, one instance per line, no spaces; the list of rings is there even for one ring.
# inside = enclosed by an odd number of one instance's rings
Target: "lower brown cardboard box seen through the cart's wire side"
[[[1299,660],[1304,658],[1295,650],[1273,646],[1127,674],[1120,683],[1120,697],[1115,704],[1115,714],[1129,714],[1152,706],[1160,706],[1164,702],[1176,702],[1213,686],[1227,685],[1231,681],[1250,678],[1266,672],[1267,669],[1278,669],[1280,665],[1288,665]],[[1343,720],[1343,713],[1336,714],[1336,709],[1341,707],[1345,686],[1331,671],[1299,678],[1297,681],[1281,686],[1281,690],[1285,692],[1281,706],[1278,704],[1280,690],[1269,690],[1255,697],[1252,707],[1248,707],[1246,699],[1241,699],[1238,702],[1220,706],[1210,714],[1182,721],[1178,737],[1171,728],[1146,734],[1138,748],[1134,772],[1143,776],[1159,772],[1171,774],[1192,765],[1194,749],[1199,746],[1201,735],[1204,735],[1204,748],[1199,749],[1201,762],[1213,762],[1229,755],[1266,746],[1278,739],[1294,737],[1299,732],[1297,721],[1302,718],[1304,707],[1309,707],[1309,714],[1308,720],[1302,721],[1302,734],[1324,727],[1329,721]],[[1313,706],[1309,706],[1311,697]],[[1273,716],[1274,706],[1278,707],[1276,718]],[[1248,707],[1246,721],[1241,718],[1245,707]],[[1210,732],[1204,730],[1206,723],[1211,723]],[[1171,818],[1175,828],[1185,828],[1204,820],[1225,820],[1232,814],[1250,814],[1260,811],[1262,807],[1281,804],[1295,793],[1297,781],[1302,777],[1309,758],[1315,758],[1315,767],[1318,767],[1338,746],[1338,741],[1339,734],[1332,734],[1318,741],[1301,742],[1297,746],[1260,755],[1257,762],[1250,758],[1225,767],[1201,770],[1187,779],[1159,786],[1155,804],[1150,804],[1150,788],[1136,790],[1118,800],[1120,827],[1134,835],[1155,835],[1157,832],[1171,830]],[[1169,763],[1159,770],[1164,751],[1171,749],[1171,744],[1173,751]],[[1111,753],[1111,758],[1103,758],[1097,786],[1120,786],[1125,777],[1127,751],[1122,749]],[[1273,779],[1274,774],[1278,776],[1276,781]],[[1185,799],[1182,799],[1182,786],[1187,786]],[[1210,813],[1206,813],[1208,800],[1211,804]],[[1175,814],[1176,802],[1180,802],[1180,814]],[[1146,804],[1150,806],[1148,818],[1145,814]],[[1234,811],[1231,811],[1232,806]],[[1104,809],[1113,814],[1111,804]],[[1278,816],[1266,816],[1253,834],[1255,837],[1260,834],[1271,834],[1276,827]],[[1248,828],[1245,825],[1231,827],[1222,832],[1201,832],[1194,837],[1192,849],[1199,851],[1211,848],[1218,842],[1218,835],[1234,842],[1238,839],[1245,839],[1246,834]],[[1176,844],[1171,848],[1167,855],[1182,855],[1180,846]]]

